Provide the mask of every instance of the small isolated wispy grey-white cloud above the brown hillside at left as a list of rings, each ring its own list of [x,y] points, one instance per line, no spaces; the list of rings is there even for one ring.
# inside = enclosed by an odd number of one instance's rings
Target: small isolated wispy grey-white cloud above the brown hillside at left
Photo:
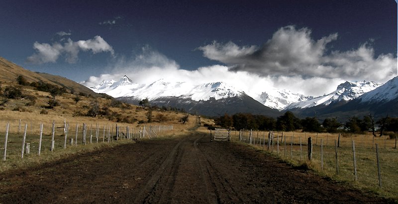
[[[60,56],[64,56],[67,63],[76,63],[80,51],[91,51],[93,54],[110,52],[112,56],[114,55],[112,47],[101,36],[77,42],[69,38],[63,45],[59,42],[52,45],[35,42],[33,49],[36,52],[26,59],[28,63],[32,64],[55,63]]]

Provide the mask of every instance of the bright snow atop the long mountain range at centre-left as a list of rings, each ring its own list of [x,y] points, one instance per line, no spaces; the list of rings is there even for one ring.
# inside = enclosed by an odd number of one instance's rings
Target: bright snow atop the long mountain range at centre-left
[[[123,76],[119,81],[103,81],[100,85],[91,87],[97,93],[106,93],[112,97],[134,96],[139,99],[148,98],[154,100],[160,97],[182,97],[191,98],[194,101],[216,100],[239,96],[243,91],[224,82],[213,82],[194,85],[188,82],[169,82],[159,79],[151,84],[137,84],[131,81],[127,76]]]

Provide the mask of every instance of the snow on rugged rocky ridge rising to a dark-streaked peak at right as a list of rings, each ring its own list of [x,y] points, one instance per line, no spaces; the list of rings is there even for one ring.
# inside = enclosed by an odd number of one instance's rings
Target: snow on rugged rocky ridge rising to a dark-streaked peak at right
[[[350,101],[358,98],[362,94],[372,91],[383,85],[377,82],[367,81],[346,81],[337,86],[337,89],[327,95],[319,96],[302,102],[292,103],[285,109],[309,108],[318,105],[329,105],[332,102]]]

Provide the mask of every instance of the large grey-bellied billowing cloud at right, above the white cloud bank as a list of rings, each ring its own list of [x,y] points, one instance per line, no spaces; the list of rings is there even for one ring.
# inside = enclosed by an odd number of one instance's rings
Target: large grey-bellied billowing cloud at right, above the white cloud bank
[[[375,56],[365,43],[358,49],[327,54],[327,44],[337,40],[333,33],[318,40],[308,28],[280,28],[263,46],[238,46],[233,42],[213,42],[198,49],[203,56],[226,64],[232,71],[248,71],[261,76],[300,76],[302,78],[343,78],[386,82],[394,77],[397,58]]]

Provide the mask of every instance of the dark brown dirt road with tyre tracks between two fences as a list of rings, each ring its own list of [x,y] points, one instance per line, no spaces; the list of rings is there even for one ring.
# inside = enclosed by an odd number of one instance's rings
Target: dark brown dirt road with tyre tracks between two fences
[[[386,203],[197,132],[0,174],[0,203]]]

